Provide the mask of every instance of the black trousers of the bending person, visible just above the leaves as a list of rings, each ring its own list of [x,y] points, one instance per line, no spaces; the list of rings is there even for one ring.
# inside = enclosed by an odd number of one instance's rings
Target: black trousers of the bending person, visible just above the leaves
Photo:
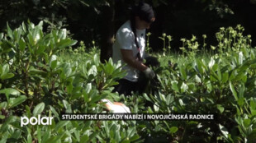
[[[119,84],[115,86],[114,92],[118,92],[120,95],[131,95],[131,91],[136,91],[136,82],[121,79]]]

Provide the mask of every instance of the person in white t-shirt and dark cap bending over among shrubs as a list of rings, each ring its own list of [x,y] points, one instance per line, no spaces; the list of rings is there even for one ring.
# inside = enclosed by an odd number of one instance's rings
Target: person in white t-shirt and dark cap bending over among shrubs
[[[138,6],[132,7],[130,20],[126,21],[116,32],[116,40],[113,44],[113,62],[121,61],[126,64],[123,67],[127,75],[119,80],[115,90],[120,95],[130,95],[131,91],[143,91],[145,83],[139,82],[140,72],[148,79],[153,79],[155,74],[152,69],[145,66],[143,59],[145,53],[145,30],[154,22],[154,11],[149,4],[140,2]]]

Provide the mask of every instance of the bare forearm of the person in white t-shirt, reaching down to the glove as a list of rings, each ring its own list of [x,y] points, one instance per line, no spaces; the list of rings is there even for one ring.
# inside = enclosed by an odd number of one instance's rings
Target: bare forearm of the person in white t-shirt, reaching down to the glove
[[[145,66],[142,62],[136,60],[133,57],[132,50],[129,49],[121,49],[121,55],[123,60],[130,66],[138,69],[139,71],[145,71],[148,67]]]

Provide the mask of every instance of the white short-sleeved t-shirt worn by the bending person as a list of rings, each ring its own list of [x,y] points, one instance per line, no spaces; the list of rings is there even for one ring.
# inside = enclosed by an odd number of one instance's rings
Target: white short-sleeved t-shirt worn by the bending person
[[[137,33],[137,41],[140,46],[140,56],[141,58],[145,57],[145,30],[136,30]],[[126,21],[123,25],[121,25],[120,29],[116,32],[116,40],[113,44],[113,62],[121,61],[122,64],[125,64],[122,55],[121,49],[130,49],[133,52],[133,56],[137,58],[137,53],[139,53],[138,48],[135,44],[135,35],[130,28],[130,21]],[[123,67],[124,70],[127,71],[127,75],[124,77],[129,81],[138,81],[139,70],[130,67],[126,64]]]

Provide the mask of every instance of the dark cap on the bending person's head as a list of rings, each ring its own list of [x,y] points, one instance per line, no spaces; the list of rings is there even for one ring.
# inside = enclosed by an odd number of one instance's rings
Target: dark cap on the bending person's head
[[[140,2],[138,6],[132,7],[132,15],[139,16],[140,20],[147,22],[153,22],[154,11],[153,8],[149,6],[148,3]]]

